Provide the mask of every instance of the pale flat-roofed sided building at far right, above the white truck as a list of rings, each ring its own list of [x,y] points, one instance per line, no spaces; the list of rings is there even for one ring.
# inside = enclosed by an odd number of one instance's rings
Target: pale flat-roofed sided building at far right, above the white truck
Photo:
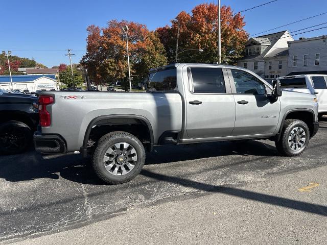
[[[327,74],[327,36],[288,42],[288,75]]]

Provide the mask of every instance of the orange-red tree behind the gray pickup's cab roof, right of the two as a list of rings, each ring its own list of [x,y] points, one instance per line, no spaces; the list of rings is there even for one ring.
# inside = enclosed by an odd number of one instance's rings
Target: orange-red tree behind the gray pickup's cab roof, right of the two
[[[169,62],[175,60],[177,26],[179,29],[179,51],[183,49],[202,49],[202,53],[184,52],[178,56],[178,62],[214,63],[218,61],[218,6],[215,4],[200,4],[192,9],[192,14],[180,12],[172,26],[156,30],[160,41],[165,46]],[[248,39],[244,16],[233,14],[230,7],[221,8],[221,54],[222,60],[232,63],[241,57],[244,45]]]

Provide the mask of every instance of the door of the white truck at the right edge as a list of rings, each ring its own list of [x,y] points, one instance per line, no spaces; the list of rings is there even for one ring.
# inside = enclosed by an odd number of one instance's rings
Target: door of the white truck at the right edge
[[[317,96],[319,112],[327,111],[327,76],[311,77],[314,93]]]

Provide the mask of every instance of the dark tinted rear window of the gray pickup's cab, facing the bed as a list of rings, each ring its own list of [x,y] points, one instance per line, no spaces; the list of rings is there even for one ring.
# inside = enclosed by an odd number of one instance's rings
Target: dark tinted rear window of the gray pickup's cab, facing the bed
[[[176,68],[152,72],[148,79],[148,92],[176,92]]]

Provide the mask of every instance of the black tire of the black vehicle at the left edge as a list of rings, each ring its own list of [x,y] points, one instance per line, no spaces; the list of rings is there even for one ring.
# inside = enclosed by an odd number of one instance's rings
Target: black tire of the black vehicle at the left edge
[[[0,125],[0,153],[12,155],[26,152],[33,145],[32,130],[21,121],[7,121]]]

